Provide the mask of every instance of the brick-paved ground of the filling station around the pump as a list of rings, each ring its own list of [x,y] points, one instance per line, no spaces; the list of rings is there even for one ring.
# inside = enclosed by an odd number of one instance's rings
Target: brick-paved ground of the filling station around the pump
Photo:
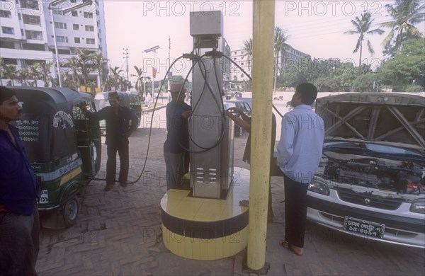
[[[130,180],[140,175],[149,141],[147,115],[130,138]],[[137,183],[103,192],[92,182],[81,195],[78,222],[70,229],[41,231],[39,275],[256,275],[249,274],[244,253],[233,258],[198,261],[170,253],[162,243],[159,202],[166,192],[162,156],[164,109],[154,114],[145,173]],[[241,161],[246,133],[234,140],[235,166]],[[103,153],[106,152],[103,147]],[[98,177],[106,174],[106,154]],[[305,253],[278,246],[283,236],[285,195],[280,178],[272,180],[275,220],[268,224],[266,275],[425,275],[423,249],[364,241],[307,224]]]

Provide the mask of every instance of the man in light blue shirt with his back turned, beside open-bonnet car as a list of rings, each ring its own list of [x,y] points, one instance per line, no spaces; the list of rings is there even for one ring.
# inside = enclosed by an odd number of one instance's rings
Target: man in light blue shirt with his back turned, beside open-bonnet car
[[[277,164],[285,181],[285,241],[280,245],[297,255],[304,247],[307,188],[322,158],[324,122],[311,107],[316,97],[313,84],[297,86],[278,143]]]

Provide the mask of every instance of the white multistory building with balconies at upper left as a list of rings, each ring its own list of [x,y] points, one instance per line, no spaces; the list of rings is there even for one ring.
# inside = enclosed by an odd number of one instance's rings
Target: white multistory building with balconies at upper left
[[[108,58],[103,1],[0,0],[0,25],[0,57],[17,70],[34,62],[52,62],[51,74],[56,78],[56,57],[62,75],[70,71],[65,64],[77,48],[101,51]],[[91,71],[89,80],[99,84],[98,72]]]

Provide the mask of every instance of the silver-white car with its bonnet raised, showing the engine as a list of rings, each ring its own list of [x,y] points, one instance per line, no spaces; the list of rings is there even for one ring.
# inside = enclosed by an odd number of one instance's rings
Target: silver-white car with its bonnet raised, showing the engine
[[[374,241],[425,248],[425,98],[346,93],[317,99],[322,161],[307,219]]]

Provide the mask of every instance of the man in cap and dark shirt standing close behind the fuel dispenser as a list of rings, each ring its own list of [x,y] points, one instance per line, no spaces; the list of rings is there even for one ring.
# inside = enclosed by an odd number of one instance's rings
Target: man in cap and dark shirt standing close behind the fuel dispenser
[[[171,102],[166,105],[166,140],[164,142],[164,159],[166,166],[166,188],[175,189],[181,186],[188,168],[185,158],[188,156],[188,117],[192,107],[184,102],[186,88],[183,84],[172,84],[170,87]],[[185,165],[186,163],[186,165]]]

